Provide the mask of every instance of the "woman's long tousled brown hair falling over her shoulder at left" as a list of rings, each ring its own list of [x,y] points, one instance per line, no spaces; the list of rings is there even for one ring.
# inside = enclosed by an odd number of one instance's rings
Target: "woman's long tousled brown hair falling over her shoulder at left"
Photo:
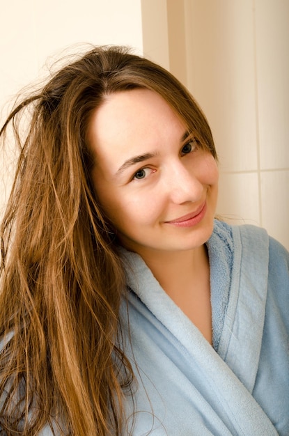
[[[86,132],[109,93],[153,90],[214,157],[212,134],[187,90],[155,63],[121,47],[95,47],[22,101],[19,146],[1,226],[0,430],[35,435],[119,435],[132,367],[118,320],[125,290],[114,229],[91,182]],[[23,135],[19,119],[31,113]]]

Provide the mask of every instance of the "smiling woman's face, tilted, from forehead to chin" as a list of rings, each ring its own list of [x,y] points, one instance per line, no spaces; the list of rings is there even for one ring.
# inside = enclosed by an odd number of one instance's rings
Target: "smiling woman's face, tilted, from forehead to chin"
[[[157,93],[109,95],[88,130],[99,201],[140,255],[200,247],[212,233],[217,164]]]

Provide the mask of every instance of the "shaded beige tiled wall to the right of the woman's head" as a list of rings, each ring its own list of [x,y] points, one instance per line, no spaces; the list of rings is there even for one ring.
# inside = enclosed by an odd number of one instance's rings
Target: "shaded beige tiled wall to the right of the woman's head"
[[[264,226],[289,249],[289,1],[148,2],[144,54],[187,85],[212,127],[217,212]]]

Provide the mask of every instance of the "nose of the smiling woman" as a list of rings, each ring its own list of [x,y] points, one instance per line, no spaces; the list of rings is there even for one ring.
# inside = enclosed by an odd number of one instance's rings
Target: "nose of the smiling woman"
[[[179,161],[170,166],[165,179],[166,189],[173,203],[196,202],[202,198],[204,187],[196,169],[187,169]]]

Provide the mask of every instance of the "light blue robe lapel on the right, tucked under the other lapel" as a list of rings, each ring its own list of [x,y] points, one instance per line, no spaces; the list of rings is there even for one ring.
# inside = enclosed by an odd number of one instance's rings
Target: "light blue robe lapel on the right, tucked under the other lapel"
[[[224,223],[216,221],[208,241],[215,347],[252,392],[265,320],[269,238],[264,229],[256,233],[253,226],[232,227],[231,234],[228,229]],[[256,271],[260,269],[263,274],[256,280]],[[218,304],[220,295],[223,295],[222,304]]]

